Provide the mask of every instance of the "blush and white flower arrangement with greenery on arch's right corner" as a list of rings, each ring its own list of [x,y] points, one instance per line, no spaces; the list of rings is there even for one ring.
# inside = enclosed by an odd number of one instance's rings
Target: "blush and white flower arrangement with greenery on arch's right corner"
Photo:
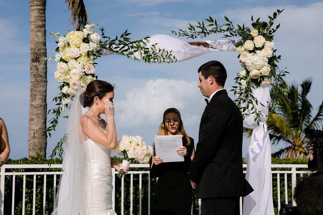
[[[274,33],[279,28],[280,24],[273,28],[274,21],[277,16],[283,12],[283,10],[277,10],[273,13],[273,16],[268,16],[268,24],[266,22],[259,22],[258,18],[254,23],[253,30],[249,27],[245,27],[245,24],[234,24],[224,16],[227,23],[217,24],[216,19],[209,16],[209,19],[205,19],[210,24],[204,24],[204,22],[197,22],[198,25],[193,26],[189,24],[189,31],[179,30],[172,31],[173,34],[179,36],[186,36],[187,38],[195,39],[197,37],[204,38],[210,34],[224,34],[223,37],[240,37],[241,40],[235,44],[236,51],[239,52],[238,58],[240,59],[240,65],[243,70],[237,73],[236,80],[239,86],[233,86],[234,94],[237,94],[238,98],[234,101],[240,108],[240,111],[245,115],[255,113],[258,125],[262,121],[262,113],[257,110],[256,105],[259,105],[257,98],[253,95],[252,90],[258,88],[260,85],[268,86],[271,84],[271,102],[269,104],[261,104],[268,107],[268,115],[273,121],[276,120],[272,117],[271,113],[275,111],[275,103],[280,103],[281,99],[278,96],[278,92],[286,93],[287,89],[282,87],[281,83],[284,83],[283,77],[288,73],[287,71],[278,69],[276,63],[279,63],[281,56],[276,56],[275,44],[273,42]],[[253,16],[251,21],[254,22]],[[208,27],[212,27],[208,29]],[[245,113],[250,107],[251,113]]]

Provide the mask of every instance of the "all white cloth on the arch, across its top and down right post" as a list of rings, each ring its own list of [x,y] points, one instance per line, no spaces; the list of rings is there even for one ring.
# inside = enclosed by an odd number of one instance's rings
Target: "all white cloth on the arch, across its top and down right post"
[[[156,48],[172,51],[177,58],[176,62],[183,62],[210,52],[235,51],[235,44],[241,39],[235,40],[205,40],[203,42],[212,48],[193,46],[177,38],[157,34],[149,38],[147,47],[156,44]],[[102,55],[116,54],[112,51],[102,50]],[[140,55],[135,55],[140,59]],[[267,131],[267,104],[270,102],[269,86],[260,85],[253,90],[253,94],[258,102],[265,105],[255,105],[255,108],[263,115],[259,125],[255,122],[256,115],[245,116],[245,124],[254,128],[251,136],[249,150],[245,156],[248,164],[246,180],[250,183],[254,191],[244,198],[243,214],[245,215],[274,215],[272,187],[271,187],[271,149],[270,139]],[[250,113],[251,105],[246,113]]]

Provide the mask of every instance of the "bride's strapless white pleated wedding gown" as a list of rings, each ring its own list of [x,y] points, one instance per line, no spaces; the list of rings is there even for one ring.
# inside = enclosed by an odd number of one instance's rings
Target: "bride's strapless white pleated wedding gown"
[[[91,139],[82,143],[80,215],[117,215],[112,209],[111,150]]]

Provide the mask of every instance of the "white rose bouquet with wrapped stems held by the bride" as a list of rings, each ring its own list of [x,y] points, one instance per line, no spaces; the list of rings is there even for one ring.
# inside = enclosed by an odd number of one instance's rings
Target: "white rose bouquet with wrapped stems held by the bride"
[[[122,140],[118,141],[118,146],[113,151],[121,156],[123,155],[122,168],[124,168],[134,160],[139,161],[139,163],[148,163],[154,150],[150,145],[147,146],[143,142],[141,136],[123,135]],[[122,178],[124,175],[125,172],[120,169],[117,176]]]

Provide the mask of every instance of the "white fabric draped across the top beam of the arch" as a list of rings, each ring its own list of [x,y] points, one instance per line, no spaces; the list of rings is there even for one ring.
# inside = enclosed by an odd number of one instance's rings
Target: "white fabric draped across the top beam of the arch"
[[[235,44],[239,42],[240,39],[235,40],[205,40],[213,48],[199,47],[190,45],[180,39],[164,35],[157,34],[149,38],[146,47],[151,47],[152,44],[156,44],[156,48],[165,49],[167,51],[172,51],[172,54],[177,58],[177,62],[187,61],[194,57],[198,57],[205,53],[210,52],[221,52],[221,51],[235,51]],[[102,50],[102,55],[116,54],[112,51]],[[140,59],[139,53],[135,55]]]

